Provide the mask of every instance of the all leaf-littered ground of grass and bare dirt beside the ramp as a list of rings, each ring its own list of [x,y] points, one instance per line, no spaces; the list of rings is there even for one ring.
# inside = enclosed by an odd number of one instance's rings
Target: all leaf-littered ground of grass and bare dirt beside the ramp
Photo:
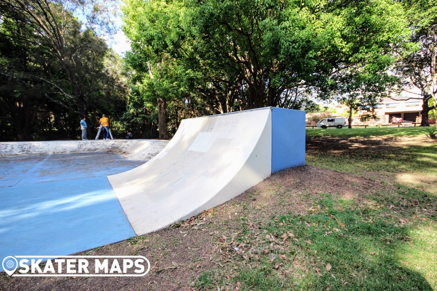
[[[166,229],[82,255],[138,278],[11,278],[6,289],[437,290],[435,128],[307,130],[307,166]]]

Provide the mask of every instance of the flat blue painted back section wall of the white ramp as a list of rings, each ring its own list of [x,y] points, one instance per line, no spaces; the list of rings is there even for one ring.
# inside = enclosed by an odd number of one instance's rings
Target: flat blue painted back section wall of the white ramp
[[[272,174],[305,165],[305,112],[272,109]]]

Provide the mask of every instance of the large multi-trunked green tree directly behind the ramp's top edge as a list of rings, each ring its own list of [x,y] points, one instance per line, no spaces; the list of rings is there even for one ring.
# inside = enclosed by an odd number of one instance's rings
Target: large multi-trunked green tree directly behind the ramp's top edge
[[[186,3],[197,60],[192,68],[203,71],[213,86],[236,92],[231,101],[240,110],[291,104],[305,96],[291,93],[309,90],[325,73],[317,53],[328,45],[324,35],[332,29],[323,21],[328,2]]]

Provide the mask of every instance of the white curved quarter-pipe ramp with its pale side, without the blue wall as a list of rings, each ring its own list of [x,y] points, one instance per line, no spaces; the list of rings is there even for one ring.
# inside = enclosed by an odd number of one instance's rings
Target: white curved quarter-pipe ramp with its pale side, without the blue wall
[[[138,235],[220,205],[271,174],[272,110],[183,120],[157,156],[108,176]]]

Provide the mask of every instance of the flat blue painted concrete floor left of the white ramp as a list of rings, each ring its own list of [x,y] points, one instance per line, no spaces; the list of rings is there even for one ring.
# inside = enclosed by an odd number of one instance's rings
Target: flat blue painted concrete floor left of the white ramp
[[[106,175],[140,164],[111,153],[0,158],[0,262],[135,236]]]

